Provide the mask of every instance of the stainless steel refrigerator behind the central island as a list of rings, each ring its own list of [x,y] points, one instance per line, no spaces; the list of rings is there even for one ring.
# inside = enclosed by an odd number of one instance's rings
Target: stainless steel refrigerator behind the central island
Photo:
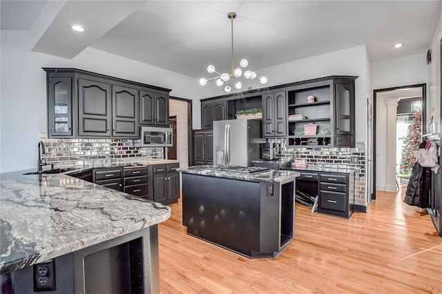
[[[251,166],[263,142],[261,120],[213,121],[213,165]]]

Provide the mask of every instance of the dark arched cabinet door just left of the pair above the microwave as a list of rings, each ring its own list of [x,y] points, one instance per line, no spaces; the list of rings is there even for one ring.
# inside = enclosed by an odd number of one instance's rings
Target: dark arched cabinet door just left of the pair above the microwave
[[[112,86],[112,135],[138,137],[138,90]]]

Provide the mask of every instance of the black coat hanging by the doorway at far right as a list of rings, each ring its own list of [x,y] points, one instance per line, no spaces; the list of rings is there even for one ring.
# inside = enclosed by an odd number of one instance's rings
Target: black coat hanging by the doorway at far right
[[[421,146],[419,147],[425,148],[425,141]],[[431,188],[431,173],[431,168],[424,168],[419,162],[414,165],[410,181],[407,184],[407,190],[405,191],[403,202],[420,208],[428,207]]]

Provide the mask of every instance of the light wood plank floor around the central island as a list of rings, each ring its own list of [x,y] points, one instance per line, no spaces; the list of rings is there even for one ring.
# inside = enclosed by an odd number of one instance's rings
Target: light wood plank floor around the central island
[[[161,293],[442,293],[442,237],[402,193],[378,193],[349,220],[296,204],[295,237],[276,259],[186,235],[172,204],[159,226]]]

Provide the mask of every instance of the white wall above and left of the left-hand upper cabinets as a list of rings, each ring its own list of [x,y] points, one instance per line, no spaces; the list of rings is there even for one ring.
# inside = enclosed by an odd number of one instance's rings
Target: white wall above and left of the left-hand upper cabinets
[[[46,72],[42,67],[90,70],[173,89],[192,99],[199,90],[191,77],[86,48],[72,60],[30,52],[28,32],[1,30],[0,172],[36,168],[39,133],[46,132]]]

